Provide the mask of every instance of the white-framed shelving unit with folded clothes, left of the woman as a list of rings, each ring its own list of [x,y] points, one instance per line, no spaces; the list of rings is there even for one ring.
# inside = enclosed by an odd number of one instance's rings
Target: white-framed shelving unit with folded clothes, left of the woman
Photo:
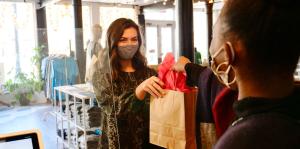
[[[78,130],[82,130],[83,131],[83,136],[84,138],[86,138],[86,128],[85,128],[85,123],[81,124],[83,126],[81,126],[78,122],[80,121],[80,119],[76,119],[77,115],[77,111],[75,112],[75,110],[77,110],[77,106],[81,106],[82,108],[82,116],[83,119],[85,119],[85,109],[93,106],[93,99],[95,99],[95,94],[93,93],[93,90],[91,89],[91,87],[89,85],[86,84],[77,84],[77,85],[70,85],[70,86],[59,86],[59,87],[55,87],[54,90],[56,90],[55,93],[58,92],[59,94],[59,99],[58,101],[53,100],[53,108],[54,111],[51,112],[51,115],[54,115],[56,117],[56,128],[57,130],[59,128],[61,128],[61,131],[66,131],[67,133],[67,140],[64,140],[63,137],[57,136],[57,140],[59,142],[61,142],[64,146],[66,146],[67,148],[78,148],[79,144],[73,144],[72,140],[71,140],[71,129],[75,129],[76,134],[75,134],[75,142],[78,142]],[[65,100],[62,100],[62,95],[65,95]],[[72,101],[70,101],[70,96],[73,96],[74,99]],[[54,95],[54,97],[56,97],[56,95]],[[89,105],[86,104],[86,100],[89,100]],[[71,103],[76,103],[74,104],[74,109],[70,109],[69,105]],[[62,105],[65,104],[65,109],[63,112],[63,108]],[[79,104],[79,105],[77,105]],[[74,110],[72,112],[73,114],[73,118],[71,118],[71,110]],[[63,132],[62,132],[63,133]],[[87,141],[85,141],[85,145],[87,145]],[[87,146],[85,146],[85,148],[87,148]]]

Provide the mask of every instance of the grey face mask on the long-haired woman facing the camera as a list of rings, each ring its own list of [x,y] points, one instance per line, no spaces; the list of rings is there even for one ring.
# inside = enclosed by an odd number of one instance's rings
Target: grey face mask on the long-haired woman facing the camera
[[[139,45],[118,46],[118,55],[124,60],[132,59],[138,48]]]

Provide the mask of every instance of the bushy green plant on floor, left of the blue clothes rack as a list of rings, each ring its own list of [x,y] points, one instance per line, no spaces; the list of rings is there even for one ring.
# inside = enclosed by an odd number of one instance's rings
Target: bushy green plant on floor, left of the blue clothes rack
[[[41,91],[42,82],[37,80],[33,74],[28,76],[25,73],[18,73],[14,79],[9,79],[4,86],[20,102],[20,105],[25,106],[29,105],[34,92]]]

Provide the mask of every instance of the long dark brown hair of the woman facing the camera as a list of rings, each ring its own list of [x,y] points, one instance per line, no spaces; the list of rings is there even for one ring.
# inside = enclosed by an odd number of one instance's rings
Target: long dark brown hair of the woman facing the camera
[[[135,53],[134,57],[132,58],[132,66],[135,69],[135,71],[137,71],[138,73],[139,72],[142,73],[147,67],[146,58],[140,52],[141,45],[142,45],[142,37],[138,25],[131,19],[119,18],[110,24],[106,33],[106,40],[107,40],[106,48],[108,48],[109,50],[110,65],[112,66],[113,80],[118,79],[119,74],[122,71],[121,64],[120,64],[121,58],[117,53],[118,42],[120,41],[120,38],[122,37],[124,30],[131,27],[136,29],[138,33],[138,46],[139,46],[138,51]]]

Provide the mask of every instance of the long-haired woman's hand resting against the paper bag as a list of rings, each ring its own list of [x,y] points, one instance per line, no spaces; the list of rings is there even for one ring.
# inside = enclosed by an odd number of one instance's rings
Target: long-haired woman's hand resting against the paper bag
[[[165,95],[165,90],[162,89],[164,83],[157,77],[152,76],[147,80],[143,81],[136,89],[136,97],[140,100],[143,100],[146,96],[146,93],[154,96],[155,98],[163,97]]]

